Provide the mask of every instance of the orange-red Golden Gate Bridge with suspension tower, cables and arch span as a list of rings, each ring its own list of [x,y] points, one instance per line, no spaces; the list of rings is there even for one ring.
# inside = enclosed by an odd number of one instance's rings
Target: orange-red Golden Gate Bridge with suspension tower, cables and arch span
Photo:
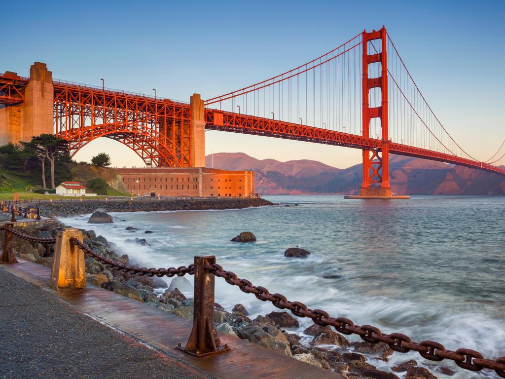
[[[0,104],[21,107],[30,80],[0,74]],[[69,141],[72,155],[105,136],[154,166],[195,166],[201,164],[195,156],[201,156],[203,143],[195,145],[194,129],[201,121],[205,129],[360,149],[362,196],[391,196],[390,153],[505,175],[505,141],[486,160],[459,145],[384,27],[363,31],[282,74],[203,102],[198,95],[184,103],[60,80],[52,80],[52,86],[51,132]]]

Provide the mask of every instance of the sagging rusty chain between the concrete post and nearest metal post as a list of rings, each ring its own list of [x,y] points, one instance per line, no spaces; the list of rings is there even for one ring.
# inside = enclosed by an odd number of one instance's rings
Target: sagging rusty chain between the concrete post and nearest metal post
[[[78,249],[82,250],[84,253],[88,254],[94,260],[105,264],[109,268],[115,268],[116,270],[120,270],[123,272],[128,272],[130,274],[136,275],[147,275],[147,276],[184,276],[185,274],[194,275],[194,264],[190,264],[189,266],[180,266],[180,267],[170,267],[170,268],[146,268],[146,267],[137,267],[132,265],[127,265],[122,262],[115,261],[109,257],[106,257],[103,254],[95,253],[92,249],[90,249],[87,245],[83,244],[81,241],[77,240],[75,237],[70,238],[70,243],[77,246]]]

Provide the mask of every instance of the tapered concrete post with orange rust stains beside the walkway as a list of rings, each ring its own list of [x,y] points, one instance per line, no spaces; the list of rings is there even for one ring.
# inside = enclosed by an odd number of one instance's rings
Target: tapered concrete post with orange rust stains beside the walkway
[[[56,235],[53,269],[49,287],[55,290],[77,290],[86,288],[84,253],[70,243],[70,238],[82,241],[79,229],[58,230]]]

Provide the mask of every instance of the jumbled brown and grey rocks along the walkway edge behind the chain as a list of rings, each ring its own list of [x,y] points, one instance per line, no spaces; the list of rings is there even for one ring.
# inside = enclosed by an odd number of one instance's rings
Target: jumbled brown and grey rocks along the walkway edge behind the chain
[[[54,238],[62,227],[70,226],[59,223],[43,228],[25,227],[21,231],[41,238]],[[94,230],[80,230],[84,235],[83,242],[95,252],[125,264],[141,265],[141,262],[132,262],[114,243],[101,235],[96,235]],[[47,251],[41,244],[15,238],[13,249],[19,258],[47,267],[52,266],[53,247]],[[192,285],[184,276],[172,278],[168,285],[165,280],[156,276],[137,276],[109,269],[90,257],[85,257],[85,267],[86,280],[95,286],[188,320],[193,318],[193,299],[186,298],[182,293],[191,293]],[[214,323],[220,333],[231,334],[279,354],[334,371],[344,378],[436,379],[428,369],[418,366],[415,360],[407,360],[392,366],[393,372],[379,370],[370,361],[387,362],[393,354],[388,345],[351,342],[330,327],[316,324],[298,331],[297,319],[287,312],[271,312],[251,319],[241,304],[227,310],[216,303]],[[444,366],[434,366],[434,369],[445,375],[455,373]]]

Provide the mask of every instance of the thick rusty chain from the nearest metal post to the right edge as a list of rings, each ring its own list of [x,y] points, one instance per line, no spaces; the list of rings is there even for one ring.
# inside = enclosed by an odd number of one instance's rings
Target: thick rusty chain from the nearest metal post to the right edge
[[[246,294],[254,294],[256,298],[262,301],[270,301],[280,309],[288,309],[295,316],[309,317],[314,323],[321,326],[333,326],[341,334],[356,334],[363,341],[376,344],[383,342],[392,350],[400,353],[407,353],[411,350],[417,351],[423,358],[432,361],[441,361],[450,359],[456,362],[458,366],[470,371],[480,371],[483,368],[494,370],[499,376],[505,378],[505,357],[499,357],[495,360],[484,359],[482,354],[475,350],[458,349],[456,351],[446,350],[442,344],[434,341],[413,342],[410,337],[400,334],[384,334],[379,328],[371,325],[356,325],[354,322],[344,317],[330,317],[328,313],[321,309],[309,309],[305,304],[297,301],[289,301],[281,294],[270,294],[270,292],[260,286],[253,286],[247,279],[240,279],[231,271],[225,271],[223,267],[214,263],[206,265],[206,269],[214,275],[222,277],[227,283],[238,286],[240,291]]]

